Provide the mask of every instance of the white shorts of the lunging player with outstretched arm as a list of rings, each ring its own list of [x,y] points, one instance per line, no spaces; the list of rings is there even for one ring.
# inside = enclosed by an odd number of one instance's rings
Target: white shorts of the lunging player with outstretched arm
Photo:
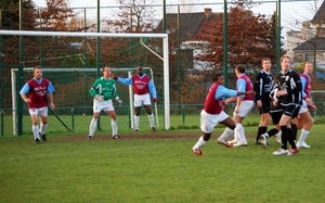
[[[220,114],[209,114],[203,110],[200,112],[200,129],[203,132],[211,134],[214,127],[227,117],[229,115],[224,111]]]

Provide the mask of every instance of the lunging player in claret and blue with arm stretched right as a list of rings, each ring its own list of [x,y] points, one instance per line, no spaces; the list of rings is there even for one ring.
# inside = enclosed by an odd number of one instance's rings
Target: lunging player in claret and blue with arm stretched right
[[[196,144],[192,148],[192,151],[196,155],[203,155],[200,149],[207,143],[211,137],[213,128],[220,123],[224,126],[235,129],[236,124],[229,115],[223,111],[224,100],[231,97],[253,94],[253,91],[242,92],[233,89],[227,89],[223,86],[224,78],[221,74],[217,74],[213,77],[213,84],[211,85],[209,92],[206,97],[204,110],[200,112],[200,129],[203,136],[198,139]],[[232,148],[231,143],[227,143],[226,136],[218,138],[218,143]]]

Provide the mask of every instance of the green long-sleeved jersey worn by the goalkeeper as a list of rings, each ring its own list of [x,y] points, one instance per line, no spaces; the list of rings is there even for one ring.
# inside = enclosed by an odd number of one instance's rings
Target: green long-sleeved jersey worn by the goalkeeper
[[[89,93],[93,98],[96,96],[104,96],[104,100],[110,100],[113,98],[119,99],[116,81],[113,78],[105,79],[104,77],[100,77],[94,81]]]

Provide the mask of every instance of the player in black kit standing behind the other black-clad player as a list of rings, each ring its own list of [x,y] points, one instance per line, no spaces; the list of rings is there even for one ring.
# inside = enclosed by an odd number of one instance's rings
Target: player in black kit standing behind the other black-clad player
[[[270,109],[271,98],[270,93],[273,89],[273,77],[271,71],[271,60],[269,58],[262,59],[262,68],[257,75],[253,84],[255,102],[260,111],[261,122],[259,124],[257,137],[255,140],[256,144],[260,143],[260,136],[265,134],[268,125],[270,123]]]

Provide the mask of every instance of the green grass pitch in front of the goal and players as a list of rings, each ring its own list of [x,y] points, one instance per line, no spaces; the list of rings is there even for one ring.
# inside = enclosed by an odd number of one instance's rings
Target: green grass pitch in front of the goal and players
[[[256,127],[245,127],[248,147],[226,149],[216,143],[222,130],[200,157],[191,152],[199,129],[91,141],[60,134],[40,144],[0,136],[0,202],[324,202],[323,124],[311,130],[312,148],[294,156],[274,156],[274,139],[255,145]]]

